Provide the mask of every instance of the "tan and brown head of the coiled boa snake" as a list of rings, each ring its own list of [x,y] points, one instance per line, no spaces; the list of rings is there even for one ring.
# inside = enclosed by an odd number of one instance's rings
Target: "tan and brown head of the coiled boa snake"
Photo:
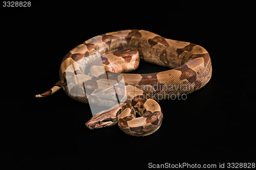
[[[89,129],[98,129],[107,126],[113,126],[117,123],[117,117],[115,114],[111,114],[110,111],[101,114],[94,115],[87,123],[86,126]]]

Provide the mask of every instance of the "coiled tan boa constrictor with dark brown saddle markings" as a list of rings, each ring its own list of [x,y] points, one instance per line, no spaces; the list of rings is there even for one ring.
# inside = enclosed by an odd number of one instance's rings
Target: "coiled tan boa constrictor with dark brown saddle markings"
[[[110,73],[136,69],[139,60],[172,68],[152,74],[122,73],[126,90],[125,103],[94,115],[86,123],[89,129],[118,123],[123,132],[133,136],[150,135],[161,126],[163,115],[156,99],[196,91],[210,80],[212,71],[209,54],[202,46],[166,39],[148,31],[124,30],[93,37],[71,50],[61,62],[60,81],[51,90],[37,94],[36,97],[48,96],[63,88],[72,99],[88,103],[87,95],[102,84],[97,64],[86,75],[90,63],[82,59],[95,55],[100,56],[105,74],[109,74],[109,77],[113,76]],[[67,81],[70,76],[69,66],[72,66],[75,76],[81,80],[83,90],[68,88],[72,84]],[[86,86],[91,91],[85,90]],[[116,88],[116,93],[118,90]],[[79,93],[84,94],[74,95]],[[98,101],[98,104],[103,103]],[[136,113],[140,117],[136,117]]]

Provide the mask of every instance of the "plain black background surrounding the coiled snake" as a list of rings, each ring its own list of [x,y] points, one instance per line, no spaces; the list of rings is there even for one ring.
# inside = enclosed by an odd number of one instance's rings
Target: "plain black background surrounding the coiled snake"
[[[255,59],[244,54],[250,50],[244,37],[251,35],[247,14],[241,13],[230,4],[194,2],[1,4],[3,160],[17,169],[255,162]],[[211,57],[208,84],[187,100],[159,101],[164,119],[157,132],[133,137],[117,126],[89,130],[84,126],[91,118],[88,104],[63,90],[33,98],[58,81],[61,59],[72,48],[96,35],[127,29],[193,42]],[[166,69],[141,63],[136,72]]]

